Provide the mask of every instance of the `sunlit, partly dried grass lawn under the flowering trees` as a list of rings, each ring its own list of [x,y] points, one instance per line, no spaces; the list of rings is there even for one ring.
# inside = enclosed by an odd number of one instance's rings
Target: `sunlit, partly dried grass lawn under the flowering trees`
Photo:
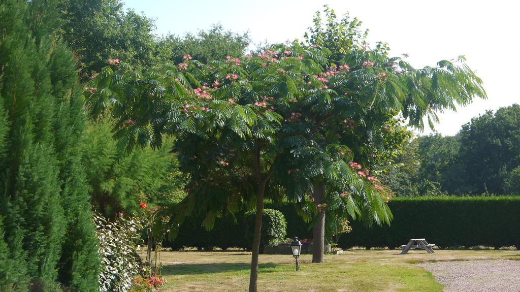
[[[517,250],[354,250],[326,256],[326,263],[300,259],[294,271],[290,255],[260,255],[258,291],[442,291],[433,275],[414,264],[424,261],[520,260]],[[247,291],[251,253],[236,251],[165,251],[163,276],[168,291]]]

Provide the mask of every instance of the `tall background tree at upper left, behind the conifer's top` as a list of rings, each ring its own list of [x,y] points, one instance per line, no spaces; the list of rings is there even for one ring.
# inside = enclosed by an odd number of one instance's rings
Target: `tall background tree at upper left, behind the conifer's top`
[[[136,68],[149,68],[161,55],[152,19],[123,9],[120,0],[60,0],[60,35],[80,61],[80,77],[88,80],[108,64],[121,59]]]

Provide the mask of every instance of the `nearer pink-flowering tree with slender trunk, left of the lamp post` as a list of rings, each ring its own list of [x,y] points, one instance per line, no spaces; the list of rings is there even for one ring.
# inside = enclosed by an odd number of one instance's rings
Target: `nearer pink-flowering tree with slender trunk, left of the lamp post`
[[[177,220],[203,212],[204,224],[211,227],[216,217],[244,202],[256,203],[250,291],[256,290],[264,199],[283,197],[282,181],[271,179],[288,172],[293,155],[288,153],[302,136],[290,131],[294,107],[326,90],[313,76],[326,60],[320,48],[294,43],[278,49],[209,64],[186,56],[177,66],[154,68],[144,76],[126,65],[116,72],[106,68],[87,85],[95,88],[87,92],[90,110],[100,113],[112,103],[119,118],[115,136],[128,147],[148,141],[158,146],[163,134],[176,134],[179,161],[190,175]],[[350,181],[358,176],[342,170]],[[301,192],[290,197],[304,201]]]

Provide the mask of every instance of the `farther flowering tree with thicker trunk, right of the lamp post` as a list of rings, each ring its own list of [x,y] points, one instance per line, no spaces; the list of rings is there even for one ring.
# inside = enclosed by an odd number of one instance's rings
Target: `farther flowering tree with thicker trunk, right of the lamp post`
[[[321,145],[316,141],[315,145],[321,149],[327,149],[325,145],[337,145],[333,148],[337,155],[349,154],[348,159],[356,161],[350,161],[349,166],[363,181],[372,182],[381,194],[378,200],[371,201],[381,203],[379,200],[387,201],[389,197],[375,176],[387,167],[385,164],[392,161],[407,138],[406,131],[398,123],[399,116],[408,120],[408,125],[420,129],[424,128],[423,117],[427,117],[433,128],[433,124],[438,122],[436,112],[456,109],[456,104],[465,105],[475,96],[486,98],[486,94],[482,81],[467,67],[463,57],[439,61],[437,67],[414,69],[403,58],[389,58],[385,43],[378,43],[371,49],[365,41],[367,32],[360,31],[361,23],[356,18],[350,20],[347,15],[337,21],[334,11],[328,6],[324,14],[327,23],[322,24],[318,12],[306,39],[310,45],[332,51],[327,56],[327,70],[315,76],[327,90],[321,93],[322,98],[306,102],[302,107],[306,112],[302,114],[313,116],[321,130],[321,135],[315,137],[327,141]],[[324,153],[316,148],[314,151]],[[334,155],[332,151],[328,153]],[[321,168],[319,174],[306,178],[312,181],[314,202],[321,207],[321,210],[318,207],[319,216],[314,221],[313,262],[323,261],[327,208],[322,206],[333,206],[329,209],[334,213],[342,206],[349,206],[341,203],[342,192],[337,190],[337,177],[333,172]],[[350,216],[355,214],[352,209],[344,210]],[[391,218],[378,205],[366,210],[370,211],[360,213],[368,219],[367,222],[388,222]]]

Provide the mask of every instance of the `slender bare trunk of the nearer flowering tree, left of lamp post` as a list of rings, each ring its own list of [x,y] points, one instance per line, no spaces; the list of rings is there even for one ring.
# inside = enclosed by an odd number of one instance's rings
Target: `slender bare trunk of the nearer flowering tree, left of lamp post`
[[[256,194],[255,234],[251,253],[251,275],[249,278],[249,292],[256,292],[256,280],[258,278],[258,253],[260,249],[260,233],[262,231],[262,215],[264,213],[265,182],[258,184]]]

